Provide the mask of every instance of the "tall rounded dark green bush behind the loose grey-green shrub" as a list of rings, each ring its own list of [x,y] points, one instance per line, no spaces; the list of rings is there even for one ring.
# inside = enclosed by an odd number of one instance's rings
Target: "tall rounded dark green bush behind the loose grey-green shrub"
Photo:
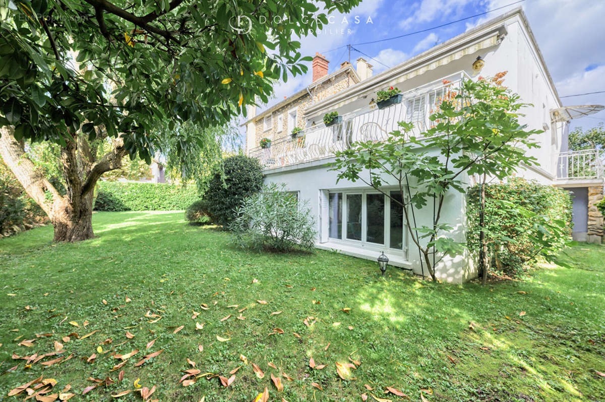
[[[212,170],[203,199],[213,221],[228,227],[244,199],[263,186],[263,168],[256,159],[235,155]]]

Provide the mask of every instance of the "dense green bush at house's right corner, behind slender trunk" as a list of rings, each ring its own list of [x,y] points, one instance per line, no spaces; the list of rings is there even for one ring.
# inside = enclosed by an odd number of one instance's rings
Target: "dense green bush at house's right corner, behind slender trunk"
[[[480,186],[468,190],[466,241],[479,256]],[[566,190],[522,178],[485,186],[485,230],[489,267],[518,276],[539,255],[553,256],[571,235],[571,197]]]

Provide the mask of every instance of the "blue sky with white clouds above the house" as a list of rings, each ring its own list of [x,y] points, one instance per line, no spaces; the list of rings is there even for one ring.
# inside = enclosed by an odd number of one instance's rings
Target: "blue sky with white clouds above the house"
[[[345,15],[334,14],[318,37],[301,39],[301,53],[323,54],[330,61],[329,73],[348,60],[364,57],[374,65],[374,74],[404,62],[436,44],[451,39],[478,24],[523,7],[559,96],[605,91],[605,0],[362,0]],[[507,7],[503,7],[508,5]],[[494,10],[486,15],[449,24]],[[424,31],[414,33],[416,31]],[[388,37],[399,39],[363,44]],[[361,52],[361,53],[360,53]],[[371,59],[370,59],[371,57]],[[274,86],[275,96],[258,112],[274,105],[312,82],[312,69],[305,76],[290,77]],[[563,105],[605,105],[605,93],[565,97]],[[572,120],[571,128],[584,129],[605,123],[605,111]]]

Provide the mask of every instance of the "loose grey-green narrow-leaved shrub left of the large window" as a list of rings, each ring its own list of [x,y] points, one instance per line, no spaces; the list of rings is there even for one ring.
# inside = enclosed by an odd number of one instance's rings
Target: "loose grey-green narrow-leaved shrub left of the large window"
[[[238,247],[269,251],[312,248],[314,227],[309,207],[299,204],[285,184],[270,184],[247,198],[230,225]]]

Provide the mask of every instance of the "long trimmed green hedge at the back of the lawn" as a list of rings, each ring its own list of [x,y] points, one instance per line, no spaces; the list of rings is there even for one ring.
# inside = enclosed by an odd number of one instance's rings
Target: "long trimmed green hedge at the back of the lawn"
[[[195,186],[100,181],[96,211],[171,211],[187,209],[199,198]]]

